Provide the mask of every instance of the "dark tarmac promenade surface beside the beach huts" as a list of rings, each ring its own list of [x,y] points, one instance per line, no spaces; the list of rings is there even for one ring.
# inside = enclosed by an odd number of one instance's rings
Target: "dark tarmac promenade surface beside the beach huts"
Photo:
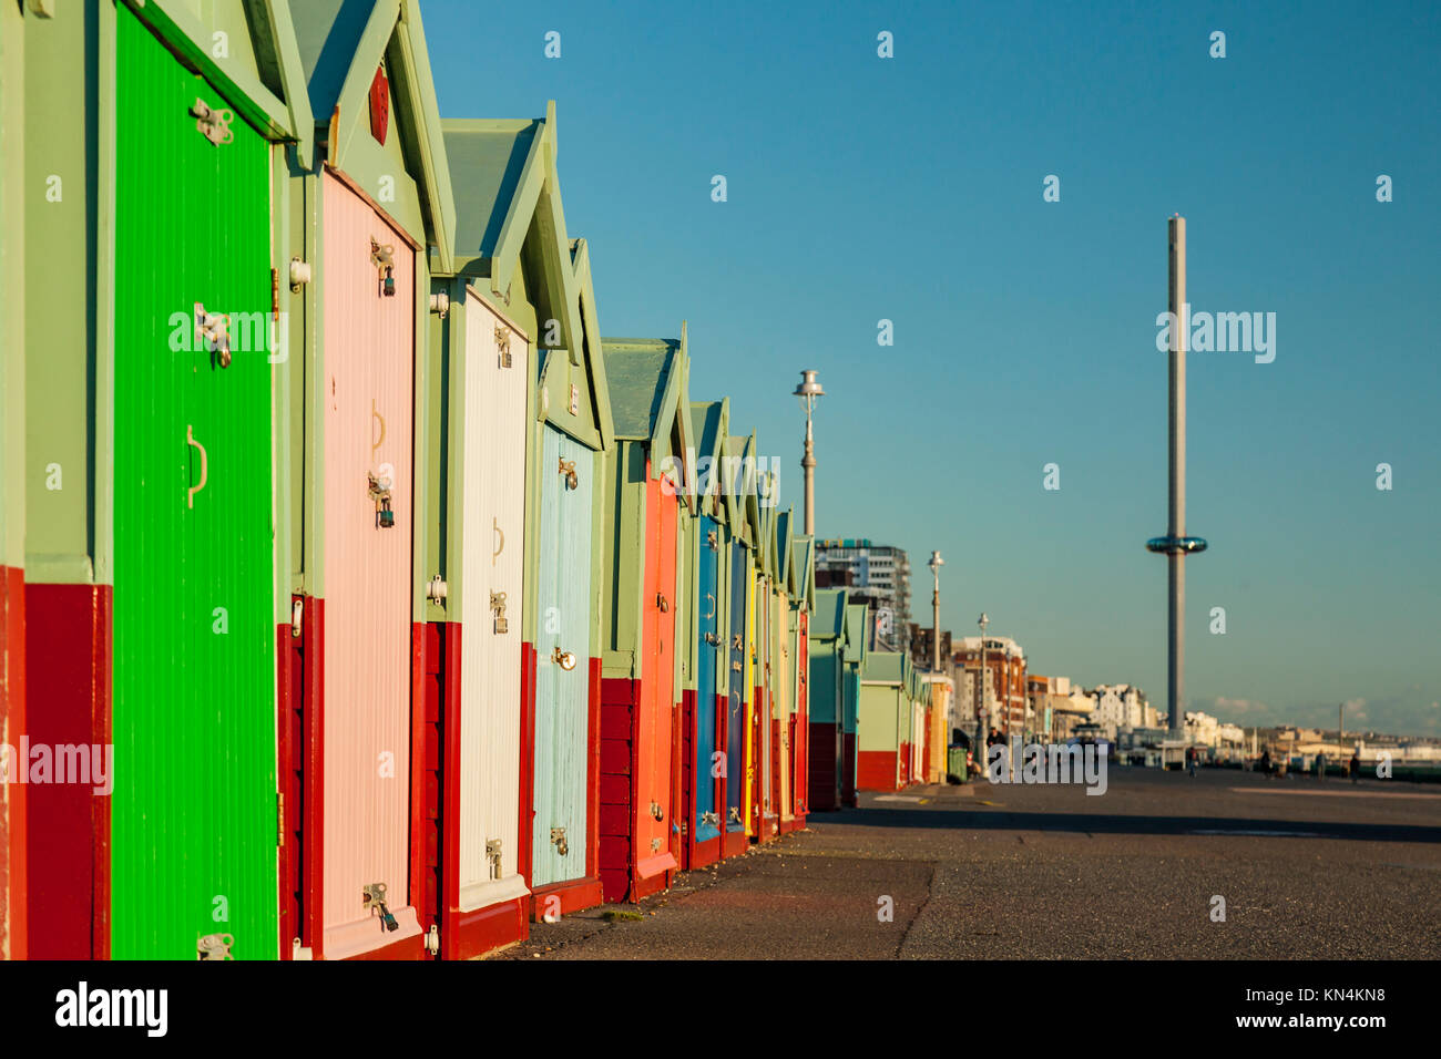
[[[491,958],[1438,957],[1437,787],[1117,767],[1102,795],[984,779],[862,794],[640,905],[532,924]]]

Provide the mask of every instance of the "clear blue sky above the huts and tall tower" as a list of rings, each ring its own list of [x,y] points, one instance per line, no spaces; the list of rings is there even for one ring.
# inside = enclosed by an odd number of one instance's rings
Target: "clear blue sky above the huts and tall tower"
[[[941,549],[942,627],[986,609],[1035,671],[1160,709],[1186,216],[1193,311],[1277,320],[1272,363],[1190,356],[1187,706],[1441,735],[1441,6],[421,10],[444,117],[556,101],[602,331],[686,318],[692,398],[784,458],[782,503],[814,367],[820,536],[906,548],[927,624]]]

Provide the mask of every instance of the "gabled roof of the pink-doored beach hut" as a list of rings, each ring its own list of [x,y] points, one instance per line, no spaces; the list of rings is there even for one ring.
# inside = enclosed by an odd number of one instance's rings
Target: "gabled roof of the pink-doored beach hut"
[[[346,169],[350,144],[365,122],[349,115],[369,111],[370,82],[382,61],[398,111],[408,169],[414,167],[427,236],[437,271],[450,272],[455,246],[455,202],[435,102],[425,27],[415,0],[297,0],[291,7],[295,43],[305,72],[310,110],[329,127],[326,161]],[[344,121],[342,121],[342,117]],[[301,161],[308,163],[308,151]]]

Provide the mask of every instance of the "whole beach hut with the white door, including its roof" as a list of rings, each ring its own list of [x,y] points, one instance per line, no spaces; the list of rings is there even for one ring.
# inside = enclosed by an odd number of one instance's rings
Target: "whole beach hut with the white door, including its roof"
[[[427,604],[435,648],[427,689],[438,699],[428,716],[442,746],[434,781],[440,947],[444,958],[468,958],[529,934],[535,379],[539,343],[579,334],[582,323],[553,107],[539,121],[441,127],[457,231],[454,269],[431,284],[444,324],[432,330],[427,396],[427,555],[438,589]]]

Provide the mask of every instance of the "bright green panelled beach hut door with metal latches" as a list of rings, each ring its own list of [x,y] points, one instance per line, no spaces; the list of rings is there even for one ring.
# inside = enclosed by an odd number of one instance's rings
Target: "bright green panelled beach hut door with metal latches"
[[[272,148],[115,12],[111,955],[275,958]]]

